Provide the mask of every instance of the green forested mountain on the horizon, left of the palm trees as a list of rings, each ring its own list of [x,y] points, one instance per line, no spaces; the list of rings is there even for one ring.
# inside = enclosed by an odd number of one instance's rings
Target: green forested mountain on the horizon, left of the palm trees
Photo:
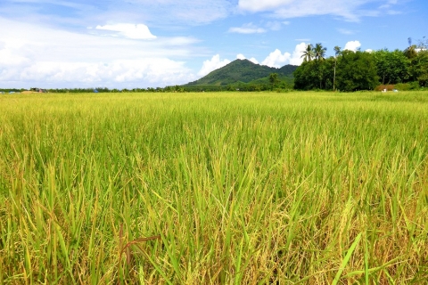
[[[280,79],[288,82],[292,80],[292,72],[295,69],[297,69],[295,65],[285,65],[280,69],[276,69],[269,68],[266,65],[255,64],[248,60],[235,60],[221,69],[216,69],[207,76],[183,86],[225,86],[232,84],[249,84],[252,82],[268,82],[268,77],[271,73],[277,73]]]

